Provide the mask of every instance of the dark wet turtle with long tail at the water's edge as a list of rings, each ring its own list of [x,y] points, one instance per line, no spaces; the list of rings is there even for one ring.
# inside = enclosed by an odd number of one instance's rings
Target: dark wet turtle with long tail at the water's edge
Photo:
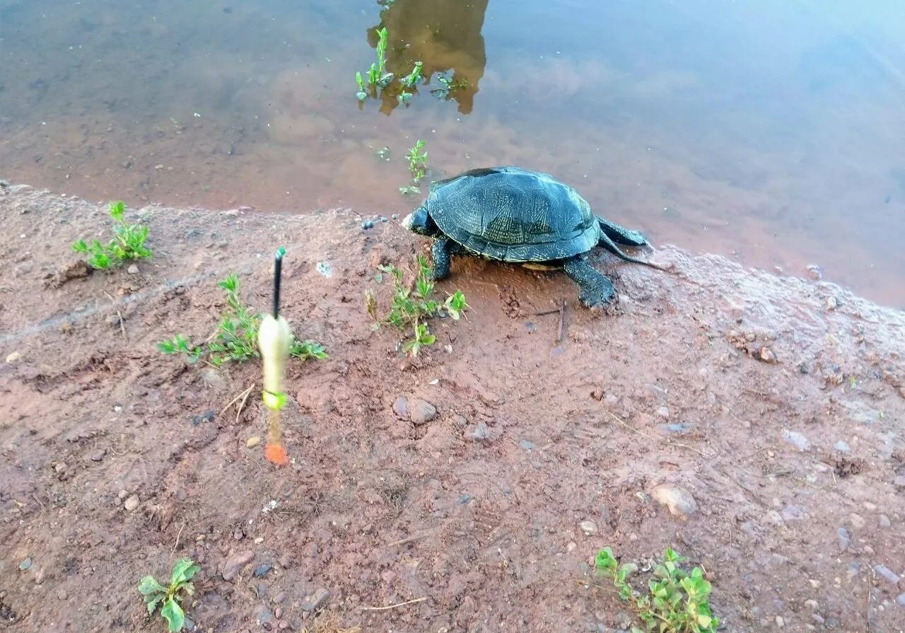
[[[595,216],[585,198],[549,174],[519,167],[478,168],[431,184],[424,204],[403,225],[433,238],[433,279],[450,273],[464,253],[531,268],[561,269],[589,308],[613,301],[613,283],[587,262],[596,245],[634,264],[662,266],[624,254],[616,243],[648,245],[639,232]]]

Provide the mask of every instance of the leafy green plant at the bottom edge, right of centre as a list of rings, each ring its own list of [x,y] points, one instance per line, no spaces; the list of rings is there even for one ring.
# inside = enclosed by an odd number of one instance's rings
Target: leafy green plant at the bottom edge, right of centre
[[[620,565],[608,547],[597,552],[595,573],[613,580],[619,597],[633,606],[643,622],[643,628],[633,627],[632,633],[716,633],[719,619],[710,611],[710,582],[700,567],[691,573],[683,571],[678,564],[683,561],[686,559],[672,548],[666,548],[663,560],[653,566],[653,578],[644,592],[629,584],[638,565]]]

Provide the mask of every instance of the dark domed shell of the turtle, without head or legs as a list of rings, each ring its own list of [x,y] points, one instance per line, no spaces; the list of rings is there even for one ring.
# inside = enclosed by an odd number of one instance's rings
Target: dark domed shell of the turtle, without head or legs
[[[438,180],[424,208],[444,235],[504,262],[564,259],[586,253],[600,239],[585,198],[529,169],[472,169]]]

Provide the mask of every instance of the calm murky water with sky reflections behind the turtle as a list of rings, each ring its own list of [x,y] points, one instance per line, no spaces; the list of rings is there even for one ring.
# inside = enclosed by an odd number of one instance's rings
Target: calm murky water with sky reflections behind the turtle
[[[356,99],[378,26],[432,80],[407,105]],[[894,2],[0,0],[0,177],[391,216],[420,138],[432,177],[542,169],[655,244],[905,307],[902,42]]]

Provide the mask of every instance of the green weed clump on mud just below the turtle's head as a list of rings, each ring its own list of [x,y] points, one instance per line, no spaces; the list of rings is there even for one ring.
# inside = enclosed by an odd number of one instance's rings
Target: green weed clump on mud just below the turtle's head
[[[422,255],[418,255],[417,264],[417,273],[410,284],[405,283],[405,273],[395,265],[377,266],[379,271],[375,275],[377,283],[383,282],[383,273],[389,274],[393,280],[393,297],[390,301],[390,311],[386,316],[381,317],[378,314],[374,292],[367,290],[365,293],[365,307],[374,320],[375,330],[381,325],[392,325],[399,330],[411,328],[414,331],[414,337],[403,342],[403,350],[412,356],[417,356],[422,348],[433,345],[436,340],[424,322],[426,319],[449,316],[453,321],[459,321],[468,309],[465,295],[461,290],[449,295],[443,302],[433,299],[433,270]]]

